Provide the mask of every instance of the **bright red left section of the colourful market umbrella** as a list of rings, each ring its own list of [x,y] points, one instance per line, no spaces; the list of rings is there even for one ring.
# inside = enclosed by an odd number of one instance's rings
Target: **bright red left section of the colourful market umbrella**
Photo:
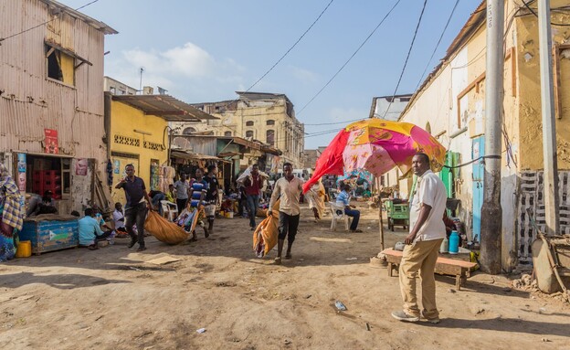
[[[317,159],[312,177],[303,185],[303,193],[307,193],[307,191],[311,189],[311,186],[319,181],[322,175],[344,174],[343,151],[348,142],[349,135],[350,133],[343,129],[332,139],[331,143],[324,150],[319,159]]]

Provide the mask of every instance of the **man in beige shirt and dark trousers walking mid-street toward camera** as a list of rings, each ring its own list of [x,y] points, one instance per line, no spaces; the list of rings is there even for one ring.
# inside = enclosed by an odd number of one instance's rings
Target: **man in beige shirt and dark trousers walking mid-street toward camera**
[[[303,181],[293,175],[293,165],[290,163],[283,164],[283,177],[275,182],[273,194],[269,201],[268,216],[272,215],[272,208],[277,199],[280,198],[280,223],[279,237],[277,241],[277,258],[275,263],[281,263],[281,253],[283,251],[283,243],[287,237],[287,253],[285,259],[291,259],[290,249],[297,235],[299,227],[299,217],[301,207],[299,207],[299,199],[301,197]]]

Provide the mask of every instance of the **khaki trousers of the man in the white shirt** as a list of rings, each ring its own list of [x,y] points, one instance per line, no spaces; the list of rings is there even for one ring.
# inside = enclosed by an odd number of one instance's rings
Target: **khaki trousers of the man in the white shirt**
[[[404,312],[420,316],[417,307],[417,272],[422,286],[422,306],[424,317],[427,319],[439,316],[436,305],[436,261],[438,260],[438,250],[443,239],[424,240],[412,245],[406,245],[400,263],[399,279],[400,292],[404,299]]]

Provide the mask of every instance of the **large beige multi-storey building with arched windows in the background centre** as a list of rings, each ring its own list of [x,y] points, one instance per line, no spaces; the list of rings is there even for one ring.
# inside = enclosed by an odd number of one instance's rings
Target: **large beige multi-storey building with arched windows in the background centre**
[[[293,103],[284,94],[240,92],[234,101],[198,103],[194,106],[219,117],[207,122],[173,122],[177,134],[211,134],[259,141],[281,151],[280,164],[301,167],[304,125],[295,118]],[[252,158],[242,162],[252,162]]]

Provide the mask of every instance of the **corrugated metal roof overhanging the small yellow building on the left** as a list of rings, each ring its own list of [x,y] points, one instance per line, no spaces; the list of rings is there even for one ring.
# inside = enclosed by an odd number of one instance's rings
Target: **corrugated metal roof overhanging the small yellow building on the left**
[[[114,101],[121,101],[134,108],[164,118],[168,122],[191,122],[219,119],[192,107],[170,95],[113,95]]]

